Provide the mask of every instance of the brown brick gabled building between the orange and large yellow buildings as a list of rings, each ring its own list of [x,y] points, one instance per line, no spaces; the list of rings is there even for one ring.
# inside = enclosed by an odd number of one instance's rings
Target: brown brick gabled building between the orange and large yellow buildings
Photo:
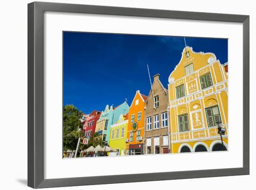
[[[160,74],[153,78],[152,89],[145,102],[145,149],[144,154],[163,154],[170,152],[168,121],[168,90],[159,80]]]

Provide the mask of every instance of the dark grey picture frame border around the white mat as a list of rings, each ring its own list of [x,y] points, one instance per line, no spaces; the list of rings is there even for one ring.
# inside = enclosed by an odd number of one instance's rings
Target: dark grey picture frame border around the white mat
[[[44,178],[44,12],[243,23],[243,167],[99,177]],[[63,187],[249,174],[249,15],[32,2],[28,4],[28,186]],[[241,131],[242,132],[242,131]],[[217,161],[216,161],[217,162]]]

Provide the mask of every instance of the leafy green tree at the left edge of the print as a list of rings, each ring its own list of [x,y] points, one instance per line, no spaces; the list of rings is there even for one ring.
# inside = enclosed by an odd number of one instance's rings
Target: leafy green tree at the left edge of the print
[[[63,106],[63,148],[75,150],[78,138],[82,135],[82,111],[74,105]]]

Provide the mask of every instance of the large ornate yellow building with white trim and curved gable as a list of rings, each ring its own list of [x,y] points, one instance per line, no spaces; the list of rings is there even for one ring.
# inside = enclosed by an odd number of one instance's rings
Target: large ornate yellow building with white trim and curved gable
[[[228,149],[228,64],[187,46],[168,82],[171,152]]]

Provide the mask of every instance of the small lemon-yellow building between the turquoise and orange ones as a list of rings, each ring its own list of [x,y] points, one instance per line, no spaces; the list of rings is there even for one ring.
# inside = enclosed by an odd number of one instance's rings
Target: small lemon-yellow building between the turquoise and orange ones
[[[109,146],[119,152],[109,152],[109,156],[124,156],[126,153],[126,136],[128,128],[128,113],[121,114],[119,120],[110,126]]]

